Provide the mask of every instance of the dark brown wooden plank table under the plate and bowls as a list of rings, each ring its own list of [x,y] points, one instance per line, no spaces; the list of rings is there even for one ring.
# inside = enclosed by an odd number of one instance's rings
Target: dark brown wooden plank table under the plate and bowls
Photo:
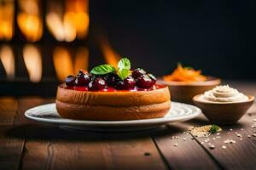
[[[256,83],[231,84],[256,95]],[[209,124],[204,116],[140,133],[74,133],[24,117],[27,109],[51,102],[0,99],[0,169],[256,169],[256,105],[238,124],[223,127],[220,138],[210,136],[211,150],[205,138],[183,133],[189,126]],[[236,144],[224,144],[226,139]]]

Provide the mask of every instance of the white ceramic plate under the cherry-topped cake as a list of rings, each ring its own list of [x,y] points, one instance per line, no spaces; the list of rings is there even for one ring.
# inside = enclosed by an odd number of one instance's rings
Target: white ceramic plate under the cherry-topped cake
[[[184,122],[201,114],[201,109],[194,105],[172,102],[172,109],[166,116],[154,119],[133,121],[78,121],[61,118],[55,109],[55,104],[39,105],[25,112],[25,116],[33,121],[60,125],[73,130],[90,131],[137,131],[146,130],[172,122]]]

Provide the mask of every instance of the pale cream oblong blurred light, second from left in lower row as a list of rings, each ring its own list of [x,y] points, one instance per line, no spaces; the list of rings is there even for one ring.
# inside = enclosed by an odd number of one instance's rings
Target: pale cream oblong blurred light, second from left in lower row
[[[23,59],[31,82],[40,82],[43,73],[40,49],[32,44],[23,48]]]

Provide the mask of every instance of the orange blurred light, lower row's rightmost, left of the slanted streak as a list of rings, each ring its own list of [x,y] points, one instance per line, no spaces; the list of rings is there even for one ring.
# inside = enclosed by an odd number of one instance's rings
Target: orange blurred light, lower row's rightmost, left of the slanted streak
[[[89,50],[88,48],[78,48],[74,59],[74,72],[77,73],[83,69],[88,71],[89,67]]]

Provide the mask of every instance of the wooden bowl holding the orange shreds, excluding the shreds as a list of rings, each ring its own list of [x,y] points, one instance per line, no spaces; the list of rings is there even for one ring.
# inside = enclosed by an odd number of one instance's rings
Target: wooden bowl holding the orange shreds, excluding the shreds
[[[216,77],[207,77],[205,82],[170,82],[163,79],[158,83],[169,87],[172,94],[172,101],[178,101],[188,104],[193,103],[193,97],[197,94],[203,94],[220,84],[221,80]]]

